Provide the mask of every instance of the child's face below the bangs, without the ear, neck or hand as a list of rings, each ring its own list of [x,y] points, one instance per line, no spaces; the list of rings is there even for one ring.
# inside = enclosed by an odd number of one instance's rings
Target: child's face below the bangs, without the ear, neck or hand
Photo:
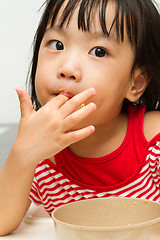
[[[106,16],[110,28],[113,4],[108,4]],[[42,106],[61,92],[73,96],[94,87],[92,101],[97,110],[85,124],[99,125],[113,121],[121,111],[132,82],[134,51],[127,37],[118,43],[114,28],[108,38],[98,20],[95,23],[90,32],[78,30],[76,10],[67,27],[59,29],[54,24],[47,29],[39,50],[35,87]]]

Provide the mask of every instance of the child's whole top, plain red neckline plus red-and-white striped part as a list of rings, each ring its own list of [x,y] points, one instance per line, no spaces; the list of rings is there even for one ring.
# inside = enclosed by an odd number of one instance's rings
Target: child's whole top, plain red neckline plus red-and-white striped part
[[[43,204],[49,214],[66,203],[111,196],[143,198],[159,203],[160,133],[150,142],[146,141],[143,135],[144,112],[143,106],[129,108],[126,137],[115,152],[105,157],[80,158],[65,149],[56,155],[59,166],[49,159],[40,162],[30,191],[31,201],[38,205]],[[115,174],[115,178],[111,177],[109,171]],[[129,174],[131,175],[125,179]],[[109,185],[109,180],[111,184],[115,184]]]

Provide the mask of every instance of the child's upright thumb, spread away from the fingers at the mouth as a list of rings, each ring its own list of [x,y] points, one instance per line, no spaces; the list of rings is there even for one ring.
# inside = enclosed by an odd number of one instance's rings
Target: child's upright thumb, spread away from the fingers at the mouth
[[[33,113],[33,105],[28,92],[23,88],[16,88],[20,102],[21,117],[27,117]]]

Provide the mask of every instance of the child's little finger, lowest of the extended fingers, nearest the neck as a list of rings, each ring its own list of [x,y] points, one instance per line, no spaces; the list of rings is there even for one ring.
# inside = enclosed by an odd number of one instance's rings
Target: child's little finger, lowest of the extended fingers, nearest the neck
[[[94,131],[95,127],[90,125],[88,127],[66,133],[67,142],[69,143],[68,146],[90,136],[94,133]]]

